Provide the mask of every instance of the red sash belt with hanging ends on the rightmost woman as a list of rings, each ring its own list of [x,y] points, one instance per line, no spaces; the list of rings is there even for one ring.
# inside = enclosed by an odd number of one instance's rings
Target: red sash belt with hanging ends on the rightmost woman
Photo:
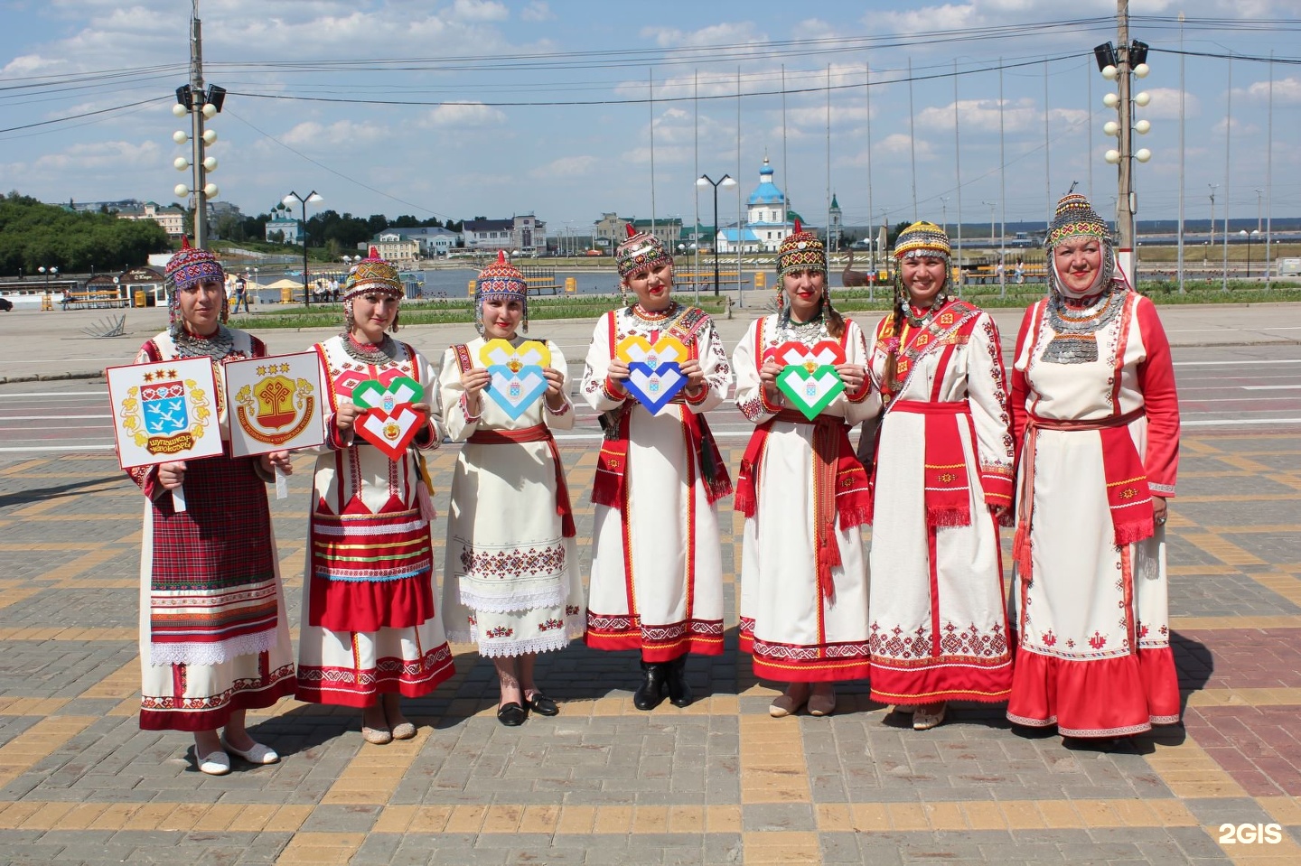
[[[1153,525],[1151,490],[1147,486],[1147,472],[1144,469],[1138,449],[1129,436],[1129,424],[1144,416],[1137,408],[1124,415],[1102,419],[1101,421],[1058,421],[1030,416],[1025,425],[1025,445],[1021,453],[1021,497],[1017,503],[1016,536],[1012,540],[1012,557],[1020,568],[1021,580],[1030,580],[1030,524],[1034,510],[1034,451],[1039,429],[1046,430],[1097,430],[1102,437],[1102,473],[1107,484],[1107,507],[1111,511],[1111,527],[1118,547],[1151,537]]]

